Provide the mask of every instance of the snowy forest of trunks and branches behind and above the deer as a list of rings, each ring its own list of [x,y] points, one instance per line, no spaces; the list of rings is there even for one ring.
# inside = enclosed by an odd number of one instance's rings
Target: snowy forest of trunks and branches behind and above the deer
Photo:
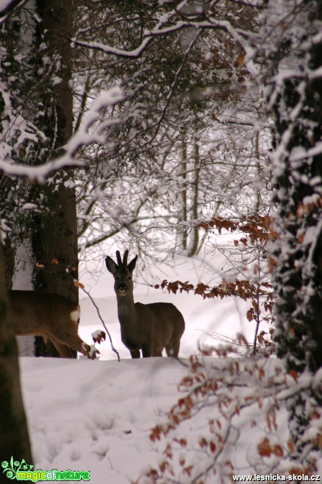
[[[43,0],[4,2],[1,24],[1,300],[27,273],[77,301],[78,261],[115,244],[154,287],[249,300],[278,385],[312,378],[286,398],[304,472],[322,439],[321,20],[320,0]],[[177,254],[206,279],[153,281]]]

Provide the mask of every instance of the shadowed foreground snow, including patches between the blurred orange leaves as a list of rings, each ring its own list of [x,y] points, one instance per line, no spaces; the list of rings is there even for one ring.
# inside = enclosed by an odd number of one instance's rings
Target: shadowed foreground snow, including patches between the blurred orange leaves
[[[205,364],[208,369],[210,365],[215,369],[219,381],[221,373],[224,374],[223,368],[229,364],[228,360],[207,358]],[[182,398],[177,386],[187,374],[186,363],[186,359],[177,361],[172,358],[125,358],[120,362],[115,359],[20,358],[34,469],[89,471],[90,481],[95,484],[130,484],[137,479],[139,484],[150,482],[142,474],[164,461],[162,452],[168,441],[168,438],[151,441],[151,428],[164,423],[165,412],[178,398]],[[268,369],[271,377],[280,367],[280,362],[264,360],[260,365],[266,365],[265,371]],[[261,407],[263,381],[259,382],[258,388],[251,385],[254,381],[250,370],[254,368],[254,362],[250,361],[249,366],[249,374],[243,371],[239,377],[240,389],[237,391],[242,403],[242,399],[251,399],[256,390],[258,404],[248,408],[246,403],[242,418],[234,416],[233,425],[226,432],[224,460],[216,466],[215,476],[209,474],[207,484],[219,484],[221,478],[224,482],[229,481],[225,478],[229,470],[231,473],[229,466],[225,469],[229,461],[233,465],[233,473],[241,475],[253,474],[254,471],[267,474],[278,464],[279,459],[274,455],[260,458],[257,443],[268,419],[273,427],[270,445],[280,445],[287,436],[283,395],[276,415],[274,410],[269,413],[267,401]],[[227,391],[232,395],[231,390]],[[291,380],[288,394],[291,396],[294,391],[297,387]],[[200,447],[196,448],[200,435],[209,436],[209,421],[221,419],[220,428],[229,423],[228,409],[227,415],[224,415],[225,410],[210,404],[211,398],[213,396],[210,395],[208,404],[192,419],[183,421],[170,436],[175,437],[176,442],[180,439],[193,442],[193,445],[188,443],[186,448],[176,444],[172,449],[173,470],[182,484],[190,482],[187,475],[180,475],[179,462],[182,459],[193,462],[195,472],[202,471],[211,463],[211,456],[203,455]],[[313,429],[311,434],[314,435]],[[321,471],[322,459],[319,464]],[[285,462],[281,461],[280,465],[285,465]]]

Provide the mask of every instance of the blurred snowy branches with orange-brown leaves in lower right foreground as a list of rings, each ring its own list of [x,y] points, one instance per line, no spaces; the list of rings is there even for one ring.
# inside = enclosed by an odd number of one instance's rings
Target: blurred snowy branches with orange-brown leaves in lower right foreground
[[[297,379],[276,360],[229,358],[229,351],[233,356],[227,347],[226,352],[209,349],[202,360],[190,357],[187,375],[178,387],[182,396],[150,432],[157,448],[166,439],[162,458],[136,483],[146,477],[155,484],[205,484],[213,482],[214,474],[229,482],[233,474],[310,476],[316,472],[320,408],[313,401],[308,405],[311,430],[303,436],[307,454],[296,464],[294,442],[282,429],[285,395],[309,392],[309,376]],[[208,358],[212,354],[217,358]],[[236,449],[242,462],[235,457]]]

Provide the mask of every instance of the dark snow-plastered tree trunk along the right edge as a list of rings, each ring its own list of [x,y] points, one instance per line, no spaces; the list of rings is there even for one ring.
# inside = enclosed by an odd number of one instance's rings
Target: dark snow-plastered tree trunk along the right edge
[[[322,366],[322,1],[269,0],[262,34],[275,120],[275,337],[278,356],[296,378]],[[287,401],[298,459],[310,403],[320,398],[298,392]]]

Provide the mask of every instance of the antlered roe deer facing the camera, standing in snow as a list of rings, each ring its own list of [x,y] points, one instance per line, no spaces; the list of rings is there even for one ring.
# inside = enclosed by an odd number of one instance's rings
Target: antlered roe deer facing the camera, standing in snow
[[[121,329],[121,340],[129,349],[132,358],[167,356],[177,358],[180,338],[184,331],[184,319],[171,303],[134,303],[132,273],[137,256],[127,265],[128,251],[123,262],[116,251],[117,264],[106,257],[107,270],[114,276],[114,291],[117,299],[117,314]]]

